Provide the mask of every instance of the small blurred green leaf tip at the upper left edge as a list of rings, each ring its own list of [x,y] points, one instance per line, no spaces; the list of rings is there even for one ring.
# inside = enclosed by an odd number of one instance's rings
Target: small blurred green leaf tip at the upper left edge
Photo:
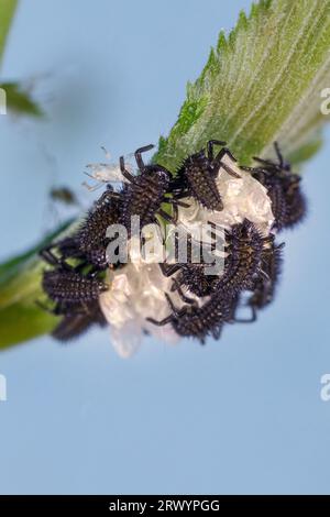
[[[6,91],[9,111],[30,117],[42,117],[44,114],[40,106],[32,99],[31,92],[24,90],[24,87],[19,82],[2,82],[0,88]]]

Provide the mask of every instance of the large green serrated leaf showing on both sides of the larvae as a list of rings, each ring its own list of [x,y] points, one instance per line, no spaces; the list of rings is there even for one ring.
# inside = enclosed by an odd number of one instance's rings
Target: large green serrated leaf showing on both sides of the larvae
[[[175,170],[208,140],[219,139],[242,164],[270,155],[274,140],[288,158],[302,163],[319,148],[321,127],[329,120],[320,112],[321,90],[330,86],[329,48],[329,0],[253,4],[228,37],[220,34],[154,161]],[[30,257],[0,282],[2,346],[53,329],[56,319],[34,304],[42,295],[41,272]]]

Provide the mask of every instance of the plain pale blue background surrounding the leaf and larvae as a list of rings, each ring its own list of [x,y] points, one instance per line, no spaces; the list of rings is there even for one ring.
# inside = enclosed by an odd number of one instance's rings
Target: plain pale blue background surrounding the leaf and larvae
[[[186,81],[249,6],[21,1],[2,75],[37,76],[48,120],[0,118],[0,258],[52,222],[54,178],[77,189],[100,145],[118,156],[170,129]],[[283,237],[282,285],[256,324],[206,348],[148,339],[128,361],[107,331],[0,355],[0,493],[330,492],[329,136],[306,167],[309,217]]]

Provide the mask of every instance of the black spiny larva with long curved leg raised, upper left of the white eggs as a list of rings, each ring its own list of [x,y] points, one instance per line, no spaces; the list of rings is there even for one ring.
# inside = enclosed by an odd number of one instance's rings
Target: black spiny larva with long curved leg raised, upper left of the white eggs
[[[124,185],[121,193],[122,209],[119,222],[125,227],[129,237],[133,216],[140,217],[140,227],[143,228],[146,224],[156,223],[157,215],[167,221],[175,222],[175,219],[161,208],[164,202],[170,204],[176,211],[178,206],[187,207],[184,202],[166,197],[172,180],[170,172],[158,164],[144,164],[142,153],[153,147],[154,145],[146,145],[135,151],[140,173],[136,176],[125,169],[124,158],[120,157],[121,173],[129,183]]]

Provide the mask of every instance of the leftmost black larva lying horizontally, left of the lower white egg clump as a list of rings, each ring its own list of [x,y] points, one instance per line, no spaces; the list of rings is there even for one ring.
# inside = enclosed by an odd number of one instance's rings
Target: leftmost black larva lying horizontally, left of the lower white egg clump
[[[97,277],[98,271],[82,273],[84,263],[72,266],[50,250],[42,250],[41,256],[55,266],[44,272],[42,280],[44,292],[56,304],[53,309],[48,309],[54,315],[68,315],[73,307],[78,309],[78,306],[98,300],[99,295],[108,289],[108,285]]]

